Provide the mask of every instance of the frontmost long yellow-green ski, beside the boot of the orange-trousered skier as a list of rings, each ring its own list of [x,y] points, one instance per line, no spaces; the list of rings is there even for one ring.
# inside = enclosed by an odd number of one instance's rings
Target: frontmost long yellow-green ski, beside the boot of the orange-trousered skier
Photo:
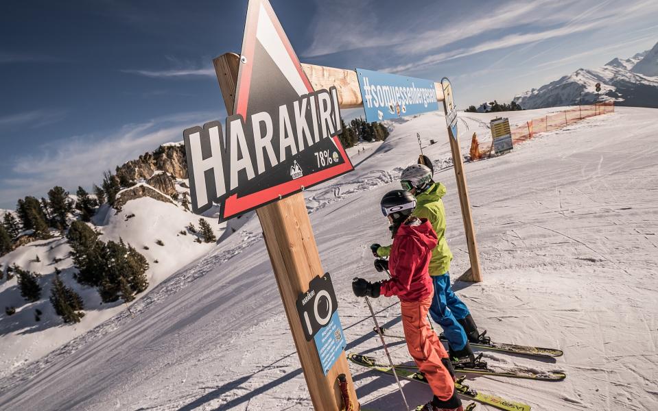
[[[374,358],[362,356],[356,353],[347,354],[347,358],[351,362],[354,362],[355,364],[359,364],[361,366],[365,366],[368,369],[379,371],[381,373],[386,373],[388,375],[393,375],[393,369],[390,366],[379,364]],[[411,369],[399,368],[399,369],[395,369],[395,373],[397,374],[398,377],[427,384],[427,380],[425,379],[423,374],[417,371],[413,371]],[[527,404],[519,403],[517,401],[508,401],[506,399],[502,399],[495,395],[480,393],[474,390],[473,388],[467,386],[466,384],[463,384],[463,381],[464,381],[464,377],[460,377],[455,382],[455,388],[457,388],[458,393],[462,397],[469,398],[472,399],[473,401],[478,401],[479,403],[483,403],[488,406],[492,406],[494,408],[504,411],[530,410],[530,406],[528,406]]]

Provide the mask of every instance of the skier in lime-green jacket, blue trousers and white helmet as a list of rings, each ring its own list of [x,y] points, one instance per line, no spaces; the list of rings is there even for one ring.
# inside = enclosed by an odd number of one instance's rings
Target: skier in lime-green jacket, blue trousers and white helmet
[[[430,221],[438,237],[438,243],[432,249],[429,269],[434,284],[430,315],[443,328],[450,357],[459,362],[473,362],[469,341],[479,342],[480,332],[466,304],[457,297],[450,285],[452,253],[445,239],[445,208],[441,199],[446,192],[445,186],[433,182],[432,171],[423,164],[408,166],[400,179],[402,188],[410,191],[418,201],[412,215]],[[375,257],[386,257],[390,253],[390,246],[373,244],[371,249]]]

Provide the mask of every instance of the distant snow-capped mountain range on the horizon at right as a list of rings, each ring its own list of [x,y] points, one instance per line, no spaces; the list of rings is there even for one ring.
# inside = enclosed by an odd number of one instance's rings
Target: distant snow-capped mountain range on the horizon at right
[[[596,83],[601,91],[596,92]],[[598,69],[578,69],[552,83],[514,97],[526,109],[615,101],[658,108],[658,43],[626,60],[613,58]]]

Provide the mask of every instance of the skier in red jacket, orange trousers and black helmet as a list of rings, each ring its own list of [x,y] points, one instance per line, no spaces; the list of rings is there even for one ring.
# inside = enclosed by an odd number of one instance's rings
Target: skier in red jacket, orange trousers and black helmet
[[[388,217],[393,234],[388,259],[391,277],[375,283],[356,278],[352,282],[352,290],[357,297],[397,295],[407,348],[434,393],[432,401],[423,410],[463,411],[451,375],[448,354],[427,321],[434,295],[427,266],[432,249],[436,247],[436,233],[427,219],[410,217],[415,207],[416,199],[408,191],[393,190],[384,195],[381,212]]]

